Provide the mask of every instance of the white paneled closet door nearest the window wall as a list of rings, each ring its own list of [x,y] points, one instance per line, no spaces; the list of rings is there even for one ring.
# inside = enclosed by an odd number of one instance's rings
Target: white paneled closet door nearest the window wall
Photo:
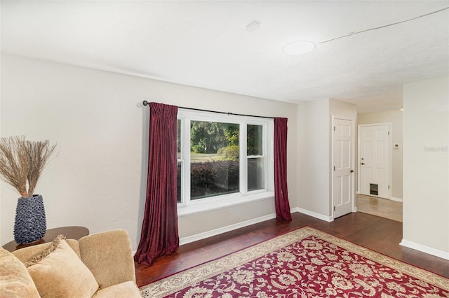
[[[333,217],[354,209],[354,120],[333,118]]]

